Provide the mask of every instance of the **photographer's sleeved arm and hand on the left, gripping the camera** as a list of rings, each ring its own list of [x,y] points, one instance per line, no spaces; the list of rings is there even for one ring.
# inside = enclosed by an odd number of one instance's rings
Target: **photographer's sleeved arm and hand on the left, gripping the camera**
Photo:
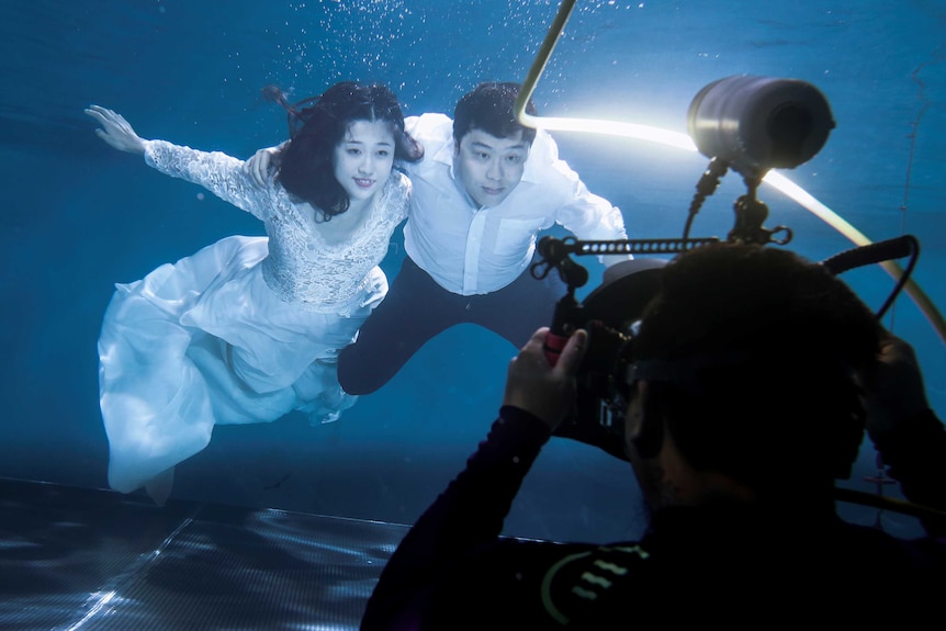
[[[585,339],[584,331],[573,336],[552,368],[542,352],[545,331],[540,329],[510,362],[499,418],[466,469],[392,555],[368,602],[362,630],[407,623],[420,629],[425,622],[450,616],[457,606],[462,609],[452,616],[471,622],[488,616],[500,599],[522,609],[532,606],[516,591],[533,583],[514,578],[513,568],[522,559],[511,549],[529,548],[533,562],[548,551],[531,542],[499,542],[499,534],[522,478],[549,440],[551,427],[564,419],[574,399],[573,375]],[[483,594],[492,595],[489,602],[477,605]]]

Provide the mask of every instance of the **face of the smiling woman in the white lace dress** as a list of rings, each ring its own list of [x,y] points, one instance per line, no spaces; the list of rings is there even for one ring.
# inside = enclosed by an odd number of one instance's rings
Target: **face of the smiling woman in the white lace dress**
[[[354,121],[331,155],[335,179],[352,203],[384,187],[394,167],[394,136],[382,121]]]

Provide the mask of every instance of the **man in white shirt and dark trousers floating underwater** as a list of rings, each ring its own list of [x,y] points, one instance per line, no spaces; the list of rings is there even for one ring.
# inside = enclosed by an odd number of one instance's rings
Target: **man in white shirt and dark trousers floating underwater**
[[[454,325],[480,325],[516,348],[549,325],[565,286],[558,274],[538,281],[528,271],[539,230],[561,224],[579,239],[627,238],[621,212],[559,159],[551,136],[516,120],[518,94],[518,83],[481,83],[460,99],[452,121],[405,120],[425,153],[403,165],[413,182],[407,256],[387,296],[339,354],[338,379],[349,394],[376,391]],[[527,112],[536,113],[531,101]]]

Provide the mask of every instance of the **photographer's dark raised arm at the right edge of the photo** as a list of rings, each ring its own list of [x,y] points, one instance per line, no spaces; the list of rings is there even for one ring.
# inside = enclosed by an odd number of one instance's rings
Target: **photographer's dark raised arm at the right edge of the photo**
[[[890,336],[871,384],[867,431],[908,499],[946,510],[946,428],[930,408],[913,348]],[[930,534],[946,523],[924,520]]]

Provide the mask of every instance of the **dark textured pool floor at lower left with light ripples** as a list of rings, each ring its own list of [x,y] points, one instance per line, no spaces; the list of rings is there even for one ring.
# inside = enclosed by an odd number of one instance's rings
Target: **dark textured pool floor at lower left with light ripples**
[[[357,629],[406,527],[0,480],[0,628]]]

